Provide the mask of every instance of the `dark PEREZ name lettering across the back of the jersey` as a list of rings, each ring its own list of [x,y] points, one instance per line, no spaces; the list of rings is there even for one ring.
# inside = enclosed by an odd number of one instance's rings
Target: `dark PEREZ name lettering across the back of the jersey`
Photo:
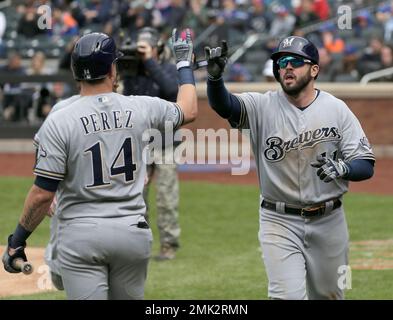
[[[85,134],[89,135],[99,131],[132,128],[131,115],[131,110],[125,110],[124,113],[120,110],[113,110],[112,112],[103,111],[99,114],[92,113],[79,119]]]

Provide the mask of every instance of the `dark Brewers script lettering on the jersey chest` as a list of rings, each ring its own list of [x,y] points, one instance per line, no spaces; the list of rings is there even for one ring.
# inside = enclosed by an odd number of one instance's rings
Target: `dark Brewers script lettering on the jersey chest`
[[[284,159],[291,150],[312,148],[318,143],[335,140],[341,140],[341,135],[336,127],[309,130],[285,142],[280,137],[273,136],[266,139],[268,147],[265,149],[264,155],[267,160],[276,162]]]

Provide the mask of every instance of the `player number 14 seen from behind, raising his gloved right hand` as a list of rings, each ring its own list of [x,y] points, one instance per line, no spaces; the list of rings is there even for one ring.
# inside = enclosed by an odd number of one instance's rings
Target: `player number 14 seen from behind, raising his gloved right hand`
[[[27,261],[26,239],[57,192],[58,261],[69,299],[142,299],[152,233],[144,219],[143,151],[151,128],[191,122],[197,99],[193,45],[173,31],[179,73],[176,103],[113,92],[119,53],[103,33],[81,37],[72,53],[81,97],[48,117],[40,128],[34,173],[24,212],[3,254],[6,271]],[[148,135],[146,135],[148,140]]]

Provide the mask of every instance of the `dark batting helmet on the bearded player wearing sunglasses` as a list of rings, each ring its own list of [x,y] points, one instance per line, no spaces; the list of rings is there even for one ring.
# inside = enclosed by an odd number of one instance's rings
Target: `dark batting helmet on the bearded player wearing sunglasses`
[[[280,42],[277,51],[270,56],[273,60],[273,73],[277,81],[280,79],[277,60],[288,53],[310,59],[313,63],[319,64],[318,49],[311,41],[297,36],[287,37]]]

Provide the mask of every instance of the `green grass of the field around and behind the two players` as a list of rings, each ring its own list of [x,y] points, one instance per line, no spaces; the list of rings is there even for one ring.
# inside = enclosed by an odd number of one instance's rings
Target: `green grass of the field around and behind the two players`
[[[0,243],[13,231],[32,180],[0,178]],[[154,199],[154,192],[150,195]],[[267,279],[259,251],[258,188],[197,182],[181,183],[181,248],[175,260],[151,260],[146,299],[266,299]],[[151,201],[151,221],[155,205]],[[351,240],[393,238],[393,198],[349,194],[345,210]],[[158,251],[158,233],[152,224]],[[44,246],[48,219],[29,238]],[[353,270],[348,299],[391,299],[393,270]],[[16,297],[62,299],[61,292]]]

